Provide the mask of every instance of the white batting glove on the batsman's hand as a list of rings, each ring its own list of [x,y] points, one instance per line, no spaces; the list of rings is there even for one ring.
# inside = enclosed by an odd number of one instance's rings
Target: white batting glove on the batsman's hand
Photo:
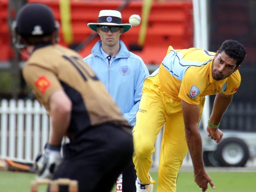
[[[61,145],[46,144],[41,155],[36,158],[37,179],[52,179],[54,171],[62,162]]]

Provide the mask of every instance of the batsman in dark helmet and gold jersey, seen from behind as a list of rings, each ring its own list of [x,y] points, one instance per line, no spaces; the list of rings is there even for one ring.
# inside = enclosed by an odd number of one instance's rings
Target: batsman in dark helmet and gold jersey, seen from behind
[[[110,192],[133,155],[131,126],[92,69],[58,45],[50,7],[26,4],[13,26],[15,45],[30,54],[23,77],[52,120],[49,141],[37,158],[37,178],[67,178],[78,181],[80,192]],[[61,153],[64,136],[70,142]],[[60,186],[60,192],[67,190]]]

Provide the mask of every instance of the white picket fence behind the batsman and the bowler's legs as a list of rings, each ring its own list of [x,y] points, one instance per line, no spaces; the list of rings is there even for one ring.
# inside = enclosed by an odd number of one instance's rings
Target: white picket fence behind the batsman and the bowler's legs
[[[32,162],[43,150],[50,134],[50,118],[38,101],[0,101],[0,156]],[[159,134],[152,167],[159,164],[162,132]],[[187,157],[183,165],[192,165]]]

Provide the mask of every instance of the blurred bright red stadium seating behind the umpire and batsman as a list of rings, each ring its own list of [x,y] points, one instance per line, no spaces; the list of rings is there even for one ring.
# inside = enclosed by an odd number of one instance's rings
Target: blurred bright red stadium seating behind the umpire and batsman
[[[28,0],[29,3],[40,2],[47,4],[56,20],[60,22],[60,8],[57,0]],[[2,53],[0,60],[11,58],[9,30],[7,27],[7,0],[0,1],[0,43]],[[80,0],[71,1],[71,27],[73,32],[73,44],[78,45],[84,41],[93,31],[88,28],[88,22],[96,22],[99,11],[102,9],[117,9],[123,4],[121,0]],[[141,14],[142,0],[131,1],[122,11],[123,23],[128,23],[130,15]],[[142,18],[143,19],[143,18]],[[127,47],[134,47],[138,42],[140,26],[121,35],[121,40]],[[8,37],[8,38],[7,38]],[[91,53],[94,43],[99,40],[97,36],[86,45],[80,54],[87,56]],[[68,46],[63,38],[60,27],[60,44]],[[142,50],[133,50],[142,57],[146,64],[160,64],[167,48],[172,45],[174,48],[188,48],[193,45],[193,21],[192,21],[192,0],[154,2],[148,20],[145,43]],[[71,46],[71,45],[70,45]],[[72,46],[74,47],[74,46]]]

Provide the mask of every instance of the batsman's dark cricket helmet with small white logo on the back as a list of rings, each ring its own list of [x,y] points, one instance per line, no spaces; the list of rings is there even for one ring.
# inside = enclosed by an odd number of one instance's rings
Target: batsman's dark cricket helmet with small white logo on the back
[[[17,34],[23,38],[44,37],[55,30],[58,38],[58,23],[48,6],[39,3],[26,4],[18,11],[16,21],[12,24],[13,43],[15,47],[22,48],[24,45],[19,42]]]

